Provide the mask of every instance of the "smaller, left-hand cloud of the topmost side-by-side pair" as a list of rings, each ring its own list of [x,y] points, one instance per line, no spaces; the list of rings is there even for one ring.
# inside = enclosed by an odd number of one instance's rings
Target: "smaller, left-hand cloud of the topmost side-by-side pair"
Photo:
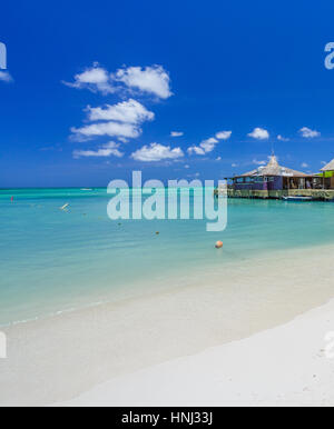
[[[92,92],[112,93],[116,89],[110,83],[109,73],[106,69],[95,63],[82,73],[75,76],[73,82],[63,82],[66,86],[77,89],[89,89]]]

